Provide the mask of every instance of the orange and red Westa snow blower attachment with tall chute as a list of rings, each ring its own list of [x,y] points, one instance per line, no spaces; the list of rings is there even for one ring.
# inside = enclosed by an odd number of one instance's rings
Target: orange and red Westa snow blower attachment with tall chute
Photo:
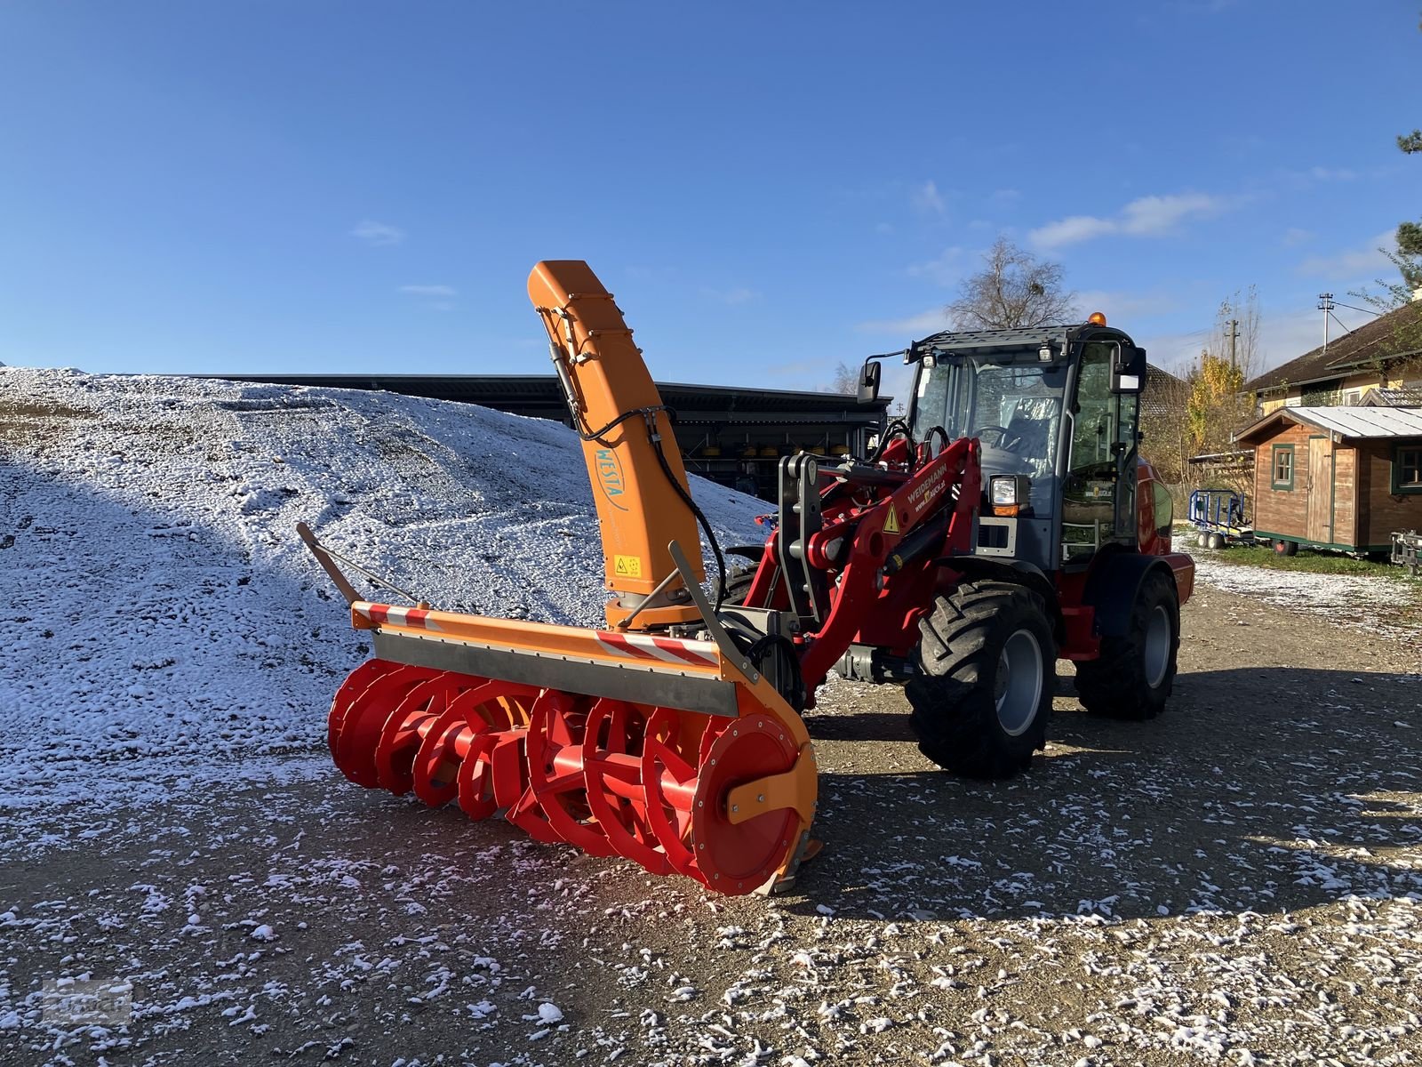
[[[586,263],[546,262],[529,296],[583,440],[607,629],[364,600],[303,524],[375,650],[331,703],[331,755],[358,785],[502,811],[539,841],[768,888],[812,846],[805,724],[701,590],[705,519],[611,294]]]

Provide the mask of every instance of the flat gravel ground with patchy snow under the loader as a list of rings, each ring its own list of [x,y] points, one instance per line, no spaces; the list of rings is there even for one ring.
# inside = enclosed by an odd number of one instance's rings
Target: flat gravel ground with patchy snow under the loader
[[[771,899],[314,754],[64,807],[0,868],[0,1061],[1415,1063],[1415,635],[1204,586],[1180,666],[1149,724],[1064,679],[998,784],[936,773],[896,690],[833,686],[825,852]]]

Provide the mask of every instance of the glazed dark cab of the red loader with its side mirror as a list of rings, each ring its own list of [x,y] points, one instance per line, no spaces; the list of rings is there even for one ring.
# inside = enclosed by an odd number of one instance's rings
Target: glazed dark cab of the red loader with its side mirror
[[[1044,570],[1135,545],[1145,351],[1103,323],[934,334],[917,363],[909,421],[981,445],[977,553]]]

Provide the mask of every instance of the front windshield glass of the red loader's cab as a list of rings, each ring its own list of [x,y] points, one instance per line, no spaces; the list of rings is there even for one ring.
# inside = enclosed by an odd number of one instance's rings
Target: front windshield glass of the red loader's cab
[[[985,474],[1044,478],[1057,469],[1066,368],[974,357],[939,357],[919,377],[913,435],[943,427],[950,441],[977,437]]]

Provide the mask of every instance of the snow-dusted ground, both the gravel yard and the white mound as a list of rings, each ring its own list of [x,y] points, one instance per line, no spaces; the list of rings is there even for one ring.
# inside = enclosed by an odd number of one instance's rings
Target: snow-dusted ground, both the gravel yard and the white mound
[[[1422,1053],[1415,654],[1261,603],[1337,619],[1395,583],[1203,558],[1167,714],[1058,697],[1008,782],[937,773],[896,691],[838,684],[811,717],[825,852],[788,898],[724,899],[324,753],[365,650],[294,522],[439,606],[596,623],[560,427],[7,368],[0,460],[7,1067]],[[764,504],[694,489],[754,536]]]

